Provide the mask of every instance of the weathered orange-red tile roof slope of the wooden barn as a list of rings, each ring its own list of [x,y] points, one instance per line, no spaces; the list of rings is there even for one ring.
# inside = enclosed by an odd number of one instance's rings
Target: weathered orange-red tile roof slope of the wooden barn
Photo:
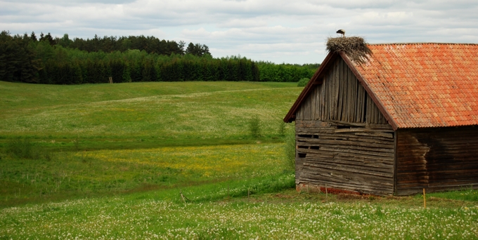
[[[478,125],[478,44],[369,48],[366,64],[346,62],[394,128]]]

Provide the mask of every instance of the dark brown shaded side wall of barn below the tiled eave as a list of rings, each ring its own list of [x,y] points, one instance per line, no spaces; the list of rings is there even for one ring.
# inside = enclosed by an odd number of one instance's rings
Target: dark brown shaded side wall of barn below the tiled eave
[[[396,194],[478,187],[478,127],[397,132]]]

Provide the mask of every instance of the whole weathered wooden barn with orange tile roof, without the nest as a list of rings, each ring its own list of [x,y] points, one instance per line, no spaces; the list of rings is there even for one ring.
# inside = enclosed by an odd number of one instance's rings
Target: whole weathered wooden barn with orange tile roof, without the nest
[[[366,46],[363,62],[330,51],[285,116],[297,189],[478,188],[478,45]]]

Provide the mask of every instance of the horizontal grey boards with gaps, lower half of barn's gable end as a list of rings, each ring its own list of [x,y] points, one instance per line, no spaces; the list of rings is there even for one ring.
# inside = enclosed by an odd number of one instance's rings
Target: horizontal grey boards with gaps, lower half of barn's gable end
[[[394,192],[389,125],[296,120],[296,185],[387,195]]]

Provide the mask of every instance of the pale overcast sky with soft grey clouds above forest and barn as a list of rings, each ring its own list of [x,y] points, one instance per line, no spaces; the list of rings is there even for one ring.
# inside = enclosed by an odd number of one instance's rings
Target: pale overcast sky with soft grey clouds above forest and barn
[[[337,29],[370,44],[478,44],[478,1],[0,0],[0,30],[11,34],[143,34],[205,44],[214,58],[320,63]]]

